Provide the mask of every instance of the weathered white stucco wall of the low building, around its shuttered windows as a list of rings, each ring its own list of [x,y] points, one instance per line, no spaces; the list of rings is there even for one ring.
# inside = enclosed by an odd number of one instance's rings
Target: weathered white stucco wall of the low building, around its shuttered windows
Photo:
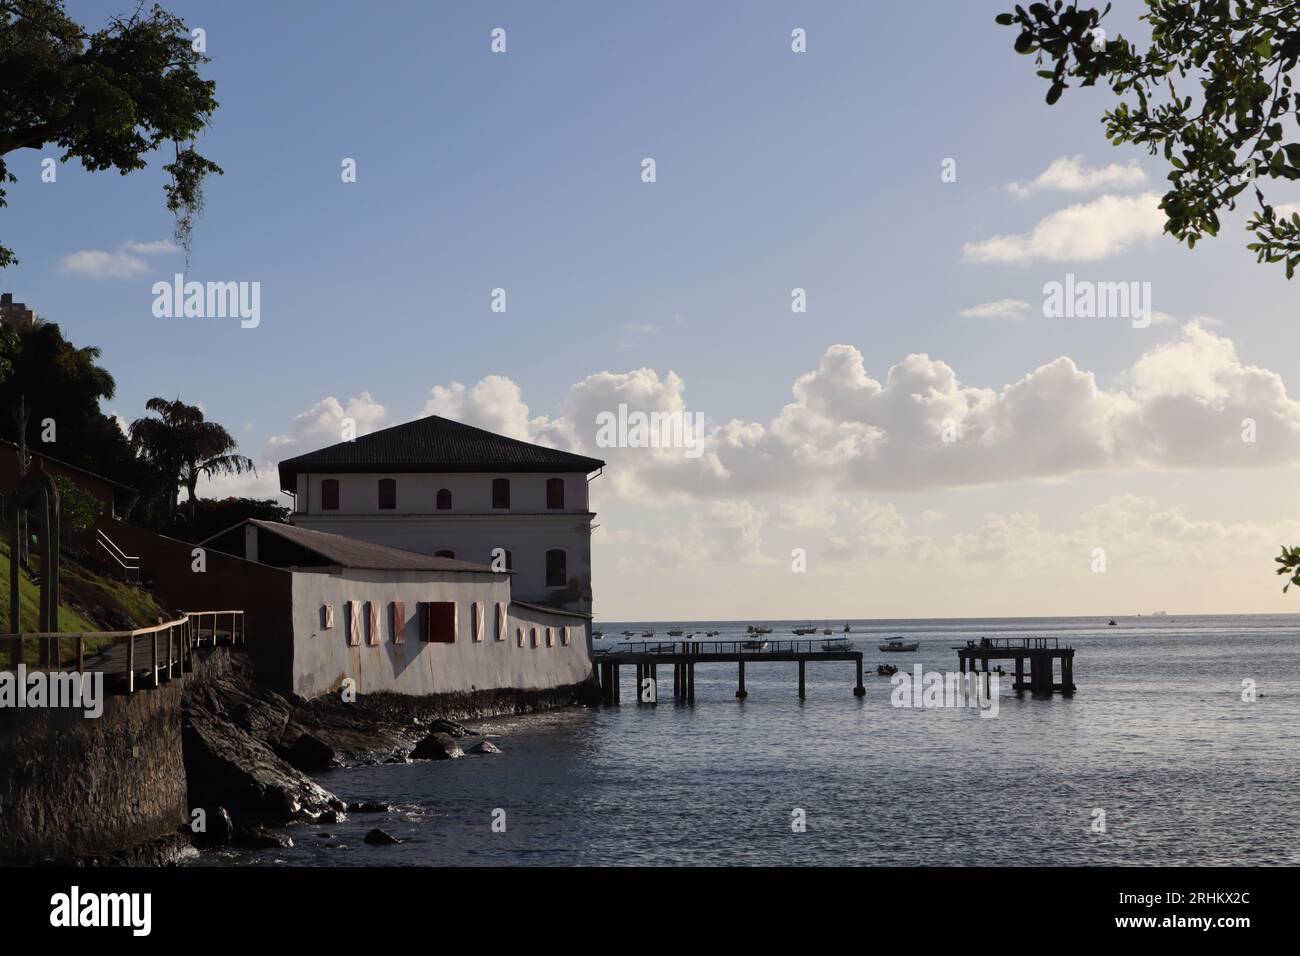
[[[344,678],[356,680],[359,693],[394,691],[429,695],[456,691],[547,689],[576,684],[592,674],[590,622],[572,615],[534,611],[510,605],[507,575],[447,574],[436,571],[363,571],[337,574],[295,571],[294,594],[294,691],[315,697],[337,689]],[[374,601],[380,607],[380,643],[359,646],[347,643],[347,602]],[[395,644],[390,627],[390,602],[406,604],[406,641]],[[420,640],[421,601],[455,601],[455,644]],[[472,602],[484,602],[484,640],[472,639]],[[506,640],[495,639],[497,602],[507,602]],[[334,607],[334,626],[322,627],[321,609]],[[572,640],[564,646],[560,631],[569,626]],[[545,628],[555,631],[554,646],[546,646]],[[525,639],[520,648],[516,628],[538,631],[538,646]]]

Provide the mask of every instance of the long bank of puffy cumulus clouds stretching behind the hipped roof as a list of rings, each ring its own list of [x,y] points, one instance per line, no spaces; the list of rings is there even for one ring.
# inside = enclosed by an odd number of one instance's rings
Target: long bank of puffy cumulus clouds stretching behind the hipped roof
[[[836,345],[790,392],[767,421],[706,416],[702,453],[694,458],[681,447],[595,442],[597,415],[620,405],[699,411],[689,407],[680,376],[660,377],[650,368],[588,376],[554,418],[532,415],[519,385],[499,375],[473,386],[434,386],[420,414],[602,458],[606,501],[779,494],[786,499],[775,515],[781,528],[828,527],[824,509],[790,503],[826,494],[1300,462],[1300,401],[1277,372],[1242,362],[1230,338],[1195,321],[1154,345],[1109,388],[1066,356],[985,388],[963,382],[940,359],[913,354],[881,381],[867,372],[858,349]],[[346,408],[326,398],[273,438],[265,458],[282,460],[338,441],[344,415],[356,419],[359,434],[387,424],[384,406],[368,393]],[[1253,442],[1243,441],[1244,419],[1254,421]]]

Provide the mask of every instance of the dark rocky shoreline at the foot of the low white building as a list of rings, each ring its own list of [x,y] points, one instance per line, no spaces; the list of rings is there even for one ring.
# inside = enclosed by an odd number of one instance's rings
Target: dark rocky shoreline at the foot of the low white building
[[[313,700],[278,693],[252,679],[242,654],[204,663],[185,688],[182,748],[195,847],[290,847],[281,827],[334,823],[386,804],[346,804],[309,774],[330,767],[455,760],[500,748],[460,721],[594,704],[593,682],[552,691],[499,691],[436,697],[364,695]],[[391,840],[374,830],[372,843]],[[143,862],[148,862],[147,860]]]

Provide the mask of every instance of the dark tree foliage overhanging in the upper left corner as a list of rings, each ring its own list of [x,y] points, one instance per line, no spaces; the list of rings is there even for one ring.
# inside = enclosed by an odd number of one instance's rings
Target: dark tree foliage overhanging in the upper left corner
[[[157,5],[87,34],[62,0],[0,0],[0,206],[16,150],[53,146],[64,163],[125,176],[170,143],[166,207],[188,251],[204,177],[221,173],[195,148],[217,108],[216,85],[199,74],[205,62],[185,21]],[[0,246],[0,268],[16,261]]]

